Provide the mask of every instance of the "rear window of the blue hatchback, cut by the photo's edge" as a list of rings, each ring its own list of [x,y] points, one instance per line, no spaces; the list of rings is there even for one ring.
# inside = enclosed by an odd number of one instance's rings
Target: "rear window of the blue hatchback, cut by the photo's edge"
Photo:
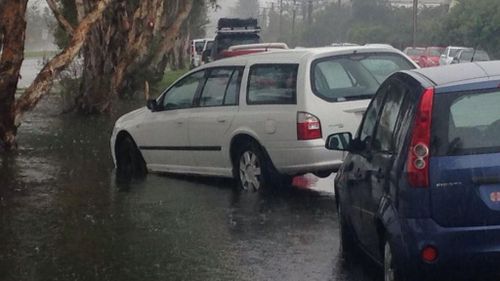
[[[499,90],[436,95],[433,155],[500,152],[499,108]]]

